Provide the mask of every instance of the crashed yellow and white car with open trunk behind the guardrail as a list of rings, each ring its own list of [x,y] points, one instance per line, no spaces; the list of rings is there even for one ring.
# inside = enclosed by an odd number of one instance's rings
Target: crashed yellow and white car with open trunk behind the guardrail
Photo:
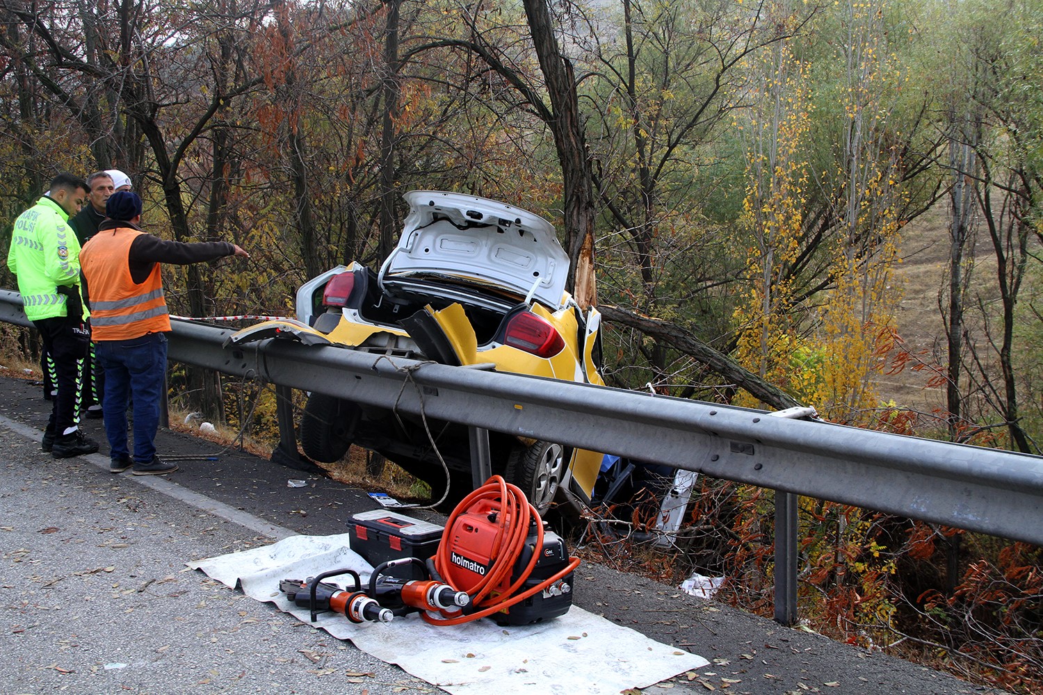
[[[601,315],[565,291],[568,256],[537,215],[461,193],[412,191],[402,237],[379,272],[351,263],[297,291],[296,322],[268,321],[236,333],[244,343],[278,334],[305,344],[603,384]],[[375,451],[459,499],[472,488],[465,425],[312,393],[300,420],[305,454],[340,460],[351,444]],[[428,431],[432,432],[429,436]],[[434,442],[432,442],[432,439]],[[441,454],[450,479],[438,461]],[[493,473],[545,512],[565,488],[588,501],[602,454],[489,432]]]

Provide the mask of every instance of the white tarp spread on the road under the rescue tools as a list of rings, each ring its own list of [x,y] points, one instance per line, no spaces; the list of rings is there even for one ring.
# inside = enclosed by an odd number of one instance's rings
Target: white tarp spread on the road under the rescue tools
[[[228,587],[241,586],[250,598],[270,601],[305,623],[311,623],[309,611],[298,609],[280,592],[281,580],[342,568],[365,579],[372,569],[350,550],[348,533],[294,536],[188,565]],[[454,695],[607,695],[647,688],[707,664],[698,654],[655,642],[577,606],[554,620],[509,627],[487,619],[434,626],[418,614],[387,624],[356,625],[343,616],[320,613],[311,624]]]

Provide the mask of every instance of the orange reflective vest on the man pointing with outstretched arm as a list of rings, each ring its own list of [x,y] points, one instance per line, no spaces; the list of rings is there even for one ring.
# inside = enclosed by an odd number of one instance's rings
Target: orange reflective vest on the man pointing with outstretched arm
[[[91,339],[125,341],[170,330],[160,264],[141,284],[130,277],[130,244],[145,232],[126,227],[95,234],[80,251],[91,296]]]

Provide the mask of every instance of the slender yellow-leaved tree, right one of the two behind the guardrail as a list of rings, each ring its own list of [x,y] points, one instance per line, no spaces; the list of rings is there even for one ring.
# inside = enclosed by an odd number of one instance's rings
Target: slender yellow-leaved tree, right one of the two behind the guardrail
[[[853,422],[877,405],[874,372],[894,324],[899,291],[893,283],[897,241],[905,203],[899,185],[903,163],[891,115],[905,79],[889,53],[887,3],[849,3],[839,26],[833,65],[842,66],[838,101],[844,122],[842,149],[832,173],[819,184],[839,220],[833,241],[834,287],[819,309],[817,343],[824,359],[812,396],[830,419]]]

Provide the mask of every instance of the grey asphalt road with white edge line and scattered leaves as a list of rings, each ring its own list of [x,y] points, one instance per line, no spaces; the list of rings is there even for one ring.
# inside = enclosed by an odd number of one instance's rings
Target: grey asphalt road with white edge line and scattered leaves
[[[441,692],[185,566],[343,532],[351,514],[375,508],[365,491],[166,430],[161,456],[217,460],[113,475],[97,420],[83,428],[100,453],[40,451],[49,407],[39,387],[0,378],[2,692]],[[582,565],[576,584],[577,605],[710,661],[646,693],[1000,692],[605,567]]]

